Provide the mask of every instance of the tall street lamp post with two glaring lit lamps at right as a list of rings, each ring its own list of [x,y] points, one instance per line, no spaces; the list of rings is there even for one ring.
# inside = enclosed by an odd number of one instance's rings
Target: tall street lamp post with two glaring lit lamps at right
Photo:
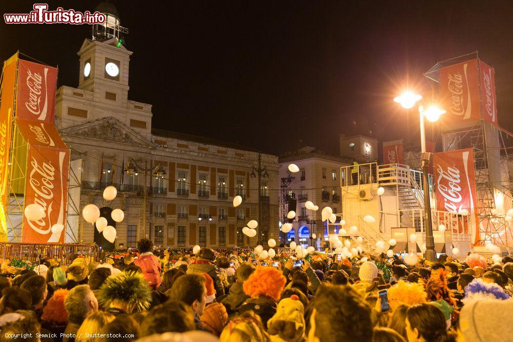
[[[422,99],[421,95],[406,92],[394,98],[394,102],[401,104],[403,108],[409,109]],[[424,218],[426,222],[426,259],[436,261],[437,252],[435,251],[435,238],[433,237],[433,222],[431,217],[431,198],[429,196],[429,175],[427,167],[429,165],[431,153],[426,152],[426,133],[424,129],[424,117],[430,122],[436,122],[445,110],[438,109],[434,106],[427,110],[419,105],[420,115],[420,143],[421,143],[421,163],[422,163],[422,186],[424,189]]]

